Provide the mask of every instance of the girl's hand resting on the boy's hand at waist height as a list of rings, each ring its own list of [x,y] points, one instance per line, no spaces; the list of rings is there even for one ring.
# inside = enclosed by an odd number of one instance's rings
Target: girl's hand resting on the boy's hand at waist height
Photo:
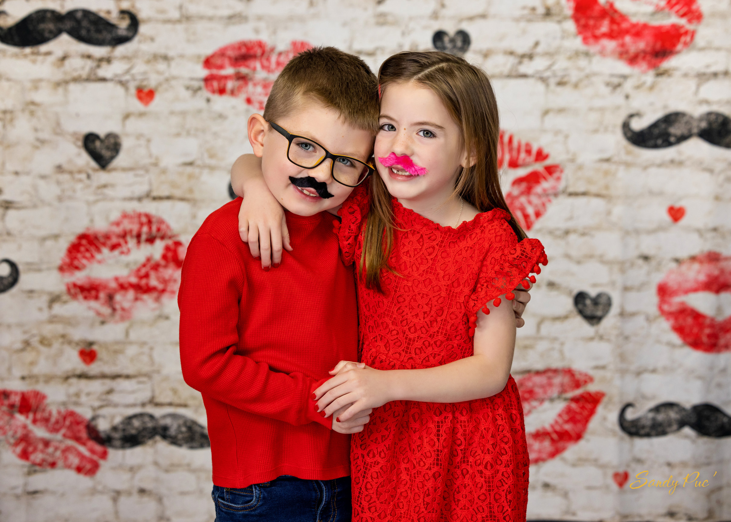
[[[357,368],[358,365],[363,365],[363,368]],[[392,400],[388,371],[352,361],[341,361],[338,366],[341,366],[339,373],[314,391],[318,410],[324,411],[325,417],[349,404],[342,415],[336,415],[343,422],[356,417],[358,412],[383,406]]]

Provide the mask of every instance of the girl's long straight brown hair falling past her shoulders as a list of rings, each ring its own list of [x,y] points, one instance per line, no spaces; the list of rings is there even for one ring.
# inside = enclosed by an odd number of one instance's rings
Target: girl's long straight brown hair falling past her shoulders
[[[391,83],[414,82],[430,88],[460,126],[463,144],[474,164],[458,175],[454,195],[480,212],[501,208],[510,213],[510,226],[519,240],[526,238],[505,203],[498,173],[500,125],[493,88],[485,72],[463,58],[440,51],[398,53],[383,62],[378,72],[381,94]],[[383,292],[381,271],[392,271],[388,257],[393,249],[391,196],[379,175],[371,176],[371,210],[363,233],[363,253],[358,273],[367,288]]]

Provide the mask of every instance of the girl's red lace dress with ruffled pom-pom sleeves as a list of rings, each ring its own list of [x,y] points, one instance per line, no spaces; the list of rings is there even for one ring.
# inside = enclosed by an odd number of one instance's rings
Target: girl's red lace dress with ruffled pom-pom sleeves
[[[360,360],[382,370],[430,368],[473,354],[469,317],[520,284],[539,260],[501,210],[442,227],[393,200],[395,248],[385,295],[358,282]],[[343,206],[346,263],[360,260],[365,189]],[[539,272],[536,268],[535,271]],[[510,303],[503,303],[509,306]],[[529,458],[518,387],[444,404],[392,401],[351,445],[353,520],[525,521]]]

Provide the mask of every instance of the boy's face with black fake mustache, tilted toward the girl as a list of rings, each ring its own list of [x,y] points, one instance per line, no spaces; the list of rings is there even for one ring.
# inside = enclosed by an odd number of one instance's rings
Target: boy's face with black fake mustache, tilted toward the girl
[[[261,118],[259,115],[251,118],[257,116],[257,119]],[[370,132],[346,124],[339,113],[317,102],[307,102],[273,123],[290,134],[319,143],[331,154],[342,154],[367,162],[373,150],[374,137]],[[264,181],[284,208],[300,216],[312,216],[345,201],[352,187],[333,179],[331,159],[325,159],[312,169],[298,167],[287,158],[287,138],[266,124],[263,118],[260,119],[260,127],[257,136],[256,126],[252,132],[252,126],[249,125],[249,141],[254,154],[262,159]],[[296,143],[292,143],[292,147],[295,146]]]

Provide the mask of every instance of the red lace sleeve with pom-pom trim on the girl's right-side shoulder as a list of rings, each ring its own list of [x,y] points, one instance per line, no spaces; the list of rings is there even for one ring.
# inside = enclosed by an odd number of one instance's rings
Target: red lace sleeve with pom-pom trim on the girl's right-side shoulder
[[[501,230],[493,234],[493,245],[485,254],[474,292],[467,301],[470,336],[474,334],[477,310],[482,308],[484,313],[489,314],[490,311],[485,305],[493,300],[493,304],[499,306],[499,295],[505,294],[505,298],[512,300],[515,298],[512,290],[515,290],[523,279],[536,282],[536,277],[530,274],[541,273],[539,263],[548,265],[548,257],[540,241],[529,238],[518,243],[515,232],[507,223],[500,228]],[[524,286],[528,286],[527,281]]]

